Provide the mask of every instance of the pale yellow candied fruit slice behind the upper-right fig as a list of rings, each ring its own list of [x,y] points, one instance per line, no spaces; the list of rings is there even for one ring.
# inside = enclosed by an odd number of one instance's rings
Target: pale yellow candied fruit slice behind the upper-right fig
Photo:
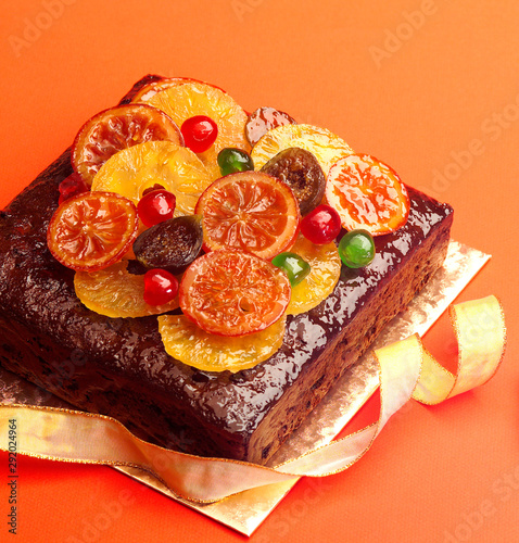
[[[352,148],[343,139],[326,128],[312,125],[283,125],[268,130],[253,147],[251,156],[254,168],[261,169],[280,151],[292,147],[309,151],[317,159],[325,176],[339,159],[353,153]]]

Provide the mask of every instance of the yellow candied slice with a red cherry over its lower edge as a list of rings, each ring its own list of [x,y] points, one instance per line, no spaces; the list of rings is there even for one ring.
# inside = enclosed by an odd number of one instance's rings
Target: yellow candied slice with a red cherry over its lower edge
[[[162,185],[177,198],[175,215],[192,215],[212,178],[200,159],[170,141],[147,141],[111,156],[97,173],[92,190],[116,192],[136,204],[145,189]]]

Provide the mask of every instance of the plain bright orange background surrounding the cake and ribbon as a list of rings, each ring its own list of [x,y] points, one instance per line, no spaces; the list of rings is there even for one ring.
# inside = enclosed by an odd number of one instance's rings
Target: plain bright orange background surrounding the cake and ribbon
[[[88,117],[159,73],[331,129],[450,202],[453,237],[493,254],[459,299],[505,305],[497,376],[438,407],[408,404],[352,469],[301,481],[252,542],[519,540],[518,26],[512,0],[3,3],[1,205]],[[448,357],[444,331],[443,320],[426,344]],[[352,427],[376,409],[375,399]],[[17,541],[245,539],[110,468],[20,458],[18,471]],[[110,523],[89,531],[106,510]]]

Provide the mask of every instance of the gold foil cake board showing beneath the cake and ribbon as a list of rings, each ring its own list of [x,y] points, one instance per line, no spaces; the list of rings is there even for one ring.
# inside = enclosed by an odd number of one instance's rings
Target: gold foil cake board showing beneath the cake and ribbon
[[[488,254],[451,241],[443,267],[415,298],[406,312],[397,315],[384,328],[372,344],[372,349],[382,348],[413,333],[423,336],[489,258]],[[371,396],[378,386],[377,362],[371,352],[368,352],[336,383],[298,431],[270,459],[269,466],[274,467],[296,458],[309,450],[329,443]],[[71,407],[49,392],[1,367],[0,399],[4,404]],[[173,495],[156,479],[141,470],[129,467],[114,469],[245,535],[254,532],[296,483],[296,480],[290,480],[241,492],[217,503],[197,505]]]

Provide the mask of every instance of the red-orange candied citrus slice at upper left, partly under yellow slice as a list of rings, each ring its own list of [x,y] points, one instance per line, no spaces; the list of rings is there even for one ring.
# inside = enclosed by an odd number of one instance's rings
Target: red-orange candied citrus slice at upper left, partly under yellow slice
[[[83,125],[72,146],[72,165],[91,185],[117,151],[151,140],[183,144],[180,129],[164,112],[144,104],[117,105]]]

